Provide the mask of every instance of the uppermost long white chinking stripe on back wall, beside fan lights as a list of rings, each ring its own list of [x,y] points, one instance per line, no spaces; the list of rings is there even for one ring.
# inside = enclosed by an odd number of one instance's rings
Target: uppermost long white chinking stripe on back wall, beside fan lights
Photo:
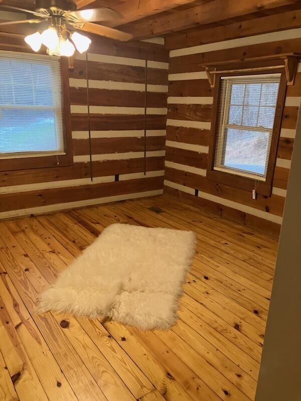
[[[86,60],[86,56],[84,54],[77,54],[75,56],[77,60]],[[145,67],[145,60],[143,59],[133,59],[130,57],[119,57],[119,56],[108,56],[105,54],[96,54],[96,53],[88,53],[88,61],[95,61],[98,63],[108,63],[108,64],[119,64],[124,66],[133,66],[133,67]],[[162,61],[147,61],[148,68],[159,68],[161,70],[168,70],[169,63],[165,63]]]

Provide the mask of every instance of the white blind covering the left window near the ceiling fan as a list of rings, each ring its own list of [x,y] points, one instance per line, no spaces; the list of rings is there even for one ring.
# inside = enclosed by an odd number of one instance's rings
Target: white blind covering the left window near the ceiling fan
[[[0,158],[65,154],[57,57],[0,51]]]

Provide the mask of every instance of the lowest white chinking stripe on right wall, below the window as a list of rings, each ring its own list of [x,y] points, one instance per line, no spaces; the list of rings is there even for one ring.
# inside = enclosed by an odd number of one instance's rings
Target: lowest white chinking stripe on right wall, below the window
[[[164,185],[169,186],[174,189],[178,189],[183,192],[190,193],[191,195],[195,194],[195,190],[193,188],[189,188],[187,186],[184,186],[184,185],[181,185],[181,184],[178,184],[175,182],[165,180]],[[233,200],[228,200],[228,199],[225,199],[225,198],[222,198],[222,197],[219,197],[216,195],[211,195],[210,193],[202,192],[202,191],[198,192],[198,196],[203,199],[211,200],[212,202],[215,202],[217,204],[224,205],[226,207],[233,208],[233,209],[239,210],[244,213],[248,213],[252,216],[256,216],[256,217],[259,217],[264,220],[268,220],[273,223],[281,224],[281,222],[282,222],[282,218],[280,216],[272,215],[270,213],[263,212],[261,210],[255,209],[255,208],[251,208],[250,206],[245,206],[245,205],[239,204],[237,202],[233,202]]]

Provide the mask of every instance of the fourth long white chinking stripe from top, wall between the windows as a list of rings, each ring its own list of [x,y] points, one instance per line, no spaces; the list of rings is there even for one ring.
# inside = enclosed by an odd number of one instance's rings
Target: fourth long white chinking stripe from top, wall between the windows
[[[165,136],[165,129],[147,129],[146,136]],[[141,138],[144,136],[142,129],[134,130],[107,130],[107,131],[91,131],[91,138]],[[89,131],[72,131],[72,139],[88,139]]]

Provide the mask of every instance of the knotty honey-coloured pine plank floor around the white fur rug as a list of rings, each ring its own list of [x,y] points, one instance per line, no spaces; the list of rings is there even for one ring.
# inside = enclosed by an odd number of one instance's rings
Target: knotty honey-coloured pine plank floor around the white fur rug
[[[116,222],[197,233],[172,330],[35,315],[42,289]],[[163,195],[1,222],[0,248],[0,400],[254,400],[275,240]]]

